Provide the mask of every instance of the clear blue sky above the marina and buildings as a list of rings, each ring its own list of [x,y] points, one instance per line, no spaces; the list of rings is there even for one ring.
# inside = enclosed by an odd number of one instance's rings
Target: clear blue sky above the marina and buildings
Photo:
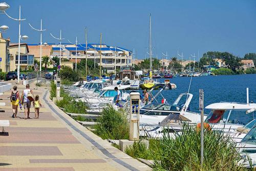
[[[43,42],[57,41],[52,33],[75,41],[84,42],[84,28],[88,28],[88,41],[102,42],[111,46],[135,49],[138,58],[144,58],[148,47],[149,14],[152,13],[153,55],[162,58],[183,52],[190,54],[206,51],[227,51],[243,57],[256,52],[256,1],[6,1],[11,7],[7,13],[18,17],[22,6],[22,35],[28,35],[29,44],[39,42],[39,33],[28,23],[39,28],[40,19],[47,29]],[[3,0],[0,2],[4,2]],[[18,22],[0,14],[0,25],[9,26],[4,37],[17,42]],[[67,42],[64,40],[63,42]]]

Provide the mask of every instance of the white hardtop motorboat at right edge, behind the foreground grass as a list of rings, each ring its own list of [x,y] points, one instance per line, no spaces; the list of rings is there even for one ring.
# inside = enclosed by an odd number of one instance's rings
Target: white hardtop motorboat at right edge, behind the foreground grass
[[[256,103],[219,102],[205,107],[210,109],[205,122],[212,129],[225,133],[237,133],[239,127],[243,127],[254,119]]]

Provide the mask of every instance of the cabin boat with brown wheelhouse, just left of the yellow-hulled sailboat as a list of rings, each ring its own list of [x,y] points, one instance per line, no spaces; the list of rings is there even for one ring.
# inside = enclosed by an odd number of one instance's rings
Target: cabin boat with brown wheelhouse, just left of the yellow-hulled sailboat
[[[133,66],[121,67],[120,72],[115,75],[113,85],[117,85],[118,82],[123,85],[130,85],[129,89],[139,89],[140,86],[139,76]]]

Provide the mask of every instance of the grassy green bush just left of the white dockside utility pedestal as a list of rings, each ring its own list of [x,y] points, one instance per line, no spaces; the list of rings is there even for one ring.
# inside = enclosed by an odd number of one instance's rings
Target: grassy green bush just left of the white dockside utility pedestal
[[[123,110],[116,111],[111,105],[103,109],[94,128],[94,133],[102,139],[129,138],[127,113]]]

